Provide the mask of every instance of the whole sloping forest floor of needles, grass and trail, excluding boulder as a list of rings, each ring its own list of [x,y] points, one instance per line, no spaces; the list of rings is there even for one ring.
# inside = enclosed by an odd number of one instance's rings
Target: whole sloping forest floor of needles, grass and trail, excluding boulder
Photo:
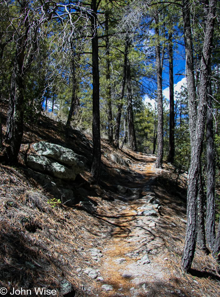
[[[0,164],[5,296],[13,287],[56,289],[66,297],[220,296],[219,265],[210,254],[197,248],[190,273],[181,270],[187,174],[177,180],[171,165],[155,169],[154,155],[115,151],[102,139],[99,183],[90,184],[86,170],[71,182],[76,204],[52,204],[53,196],[28,176],[22,156],[30,143],[44,140],[91,159],[91,136],[71,130],[65,138],[63,128],[49,117],[26,124],[18,166]],[[93,201],[95,212],[80,208],[82,197]]]

